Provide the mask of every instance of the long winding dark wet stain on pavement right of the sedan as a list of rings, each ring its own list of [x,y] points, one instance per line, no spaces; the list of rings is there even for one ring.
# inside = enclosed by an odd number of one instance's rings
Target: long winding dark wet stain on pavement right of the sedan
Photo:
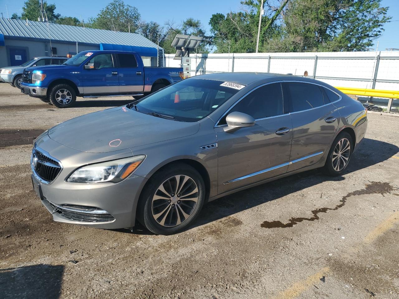
[[[338,210],[338,209],[344,207],[346,200],[351,196],[366,195],[366,194],[384,195],[386,193],[391,193],[393,190],[394,190],[394,188],[389,183],[370,182],[369,184],[366,185],[365,189],[353,191],[351,193],[348,193],[344,197],[342,197],[342,199],[340,200],[341,203],[339,205],[336,205],[334,208],[320,208],[320,209],[312,210],[313,216],[310,218],[305,218],[305,217],[290,218],[288,220],[288,223],[282,223],[281,221],[264,221],[261,224],[261,227],[263,227],[263,228],[286,228],[286,227],[292,227],[295,224],[298,224],[299,222],[302,222],[302,221],[318,220],[318,219],[320,219],[318,214],[326,213],[327,211],[335,211],[335,210]]]

